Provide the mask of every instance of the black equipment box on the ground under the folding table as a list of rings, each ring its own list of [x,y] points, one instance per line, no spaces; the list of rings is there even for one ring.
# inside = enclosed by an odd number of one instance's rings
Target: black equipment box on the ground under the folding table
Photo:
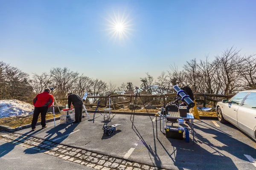
[[[184,127],[165,126],[166,138],[183,139]]]

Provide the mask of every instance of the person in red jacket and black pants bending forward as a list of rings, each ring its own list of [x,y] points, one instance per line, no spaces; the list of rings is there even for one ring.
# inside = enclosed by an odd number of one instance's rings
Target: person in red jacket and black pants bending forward
[[[51,90],[49,88],[44,89],[43,93],[38,94],[35,99],[33,99],[33,105],[35,106],[33,119],[31,123],[32,131],[35,130],[35,125],[38,121],[38,116],[41,113],[41,125],[42,129],[46,128],[45,117],[48,111],[48,108],[53,103],[53,96],[50,94]]]

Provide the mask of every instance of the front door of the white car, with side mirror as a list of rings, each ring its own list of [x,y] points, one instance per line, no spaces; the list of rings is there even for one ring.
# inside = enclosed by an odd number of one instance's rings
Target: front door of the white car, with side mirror
[[[237,123],[237,111],[241,105],[241,102],[244,100],[244,97],[248,94],[248,92],[240,92],[233,96],[232,99],[229,100],[227,105],[224,106],[224,114],[225,119],[232,123],[235,126],[238,126]]]

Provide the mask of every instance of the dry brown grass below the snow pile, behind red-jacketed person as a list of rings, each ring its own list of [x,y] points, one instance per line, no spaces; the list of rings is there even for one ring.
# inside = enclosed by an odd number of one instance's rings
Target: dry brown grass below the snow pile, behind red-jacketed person
[[[55,117],[59,117],[61,114],[55,114]],[[5,117],[0,118],[0,125],[6,125],[10,127],[19,127],[23,125],[31,124],[33,115],[27,117]],[[46,119],[52,119],[53,114],[46,114]],[[41,122],[41,115],[38,117],[38,122]]]

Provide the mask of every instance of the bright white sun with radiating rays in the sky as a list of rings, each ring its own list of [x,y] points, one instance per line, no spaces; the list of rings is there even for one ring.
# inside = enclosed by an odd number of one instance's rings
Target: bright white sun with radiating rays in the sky
[[[109,35],[111,35],[111,39],[114,38],[116,40],[117,38],[120,40],[129,39],[129,35],[131,34],[131,24],[132,20],[129,20],[129,15],[125,15],[125,13],[122,14],[122,16],[119,14],[116,14],[113,12],[113,16],[109,16],[108,19],[108,31]]]

